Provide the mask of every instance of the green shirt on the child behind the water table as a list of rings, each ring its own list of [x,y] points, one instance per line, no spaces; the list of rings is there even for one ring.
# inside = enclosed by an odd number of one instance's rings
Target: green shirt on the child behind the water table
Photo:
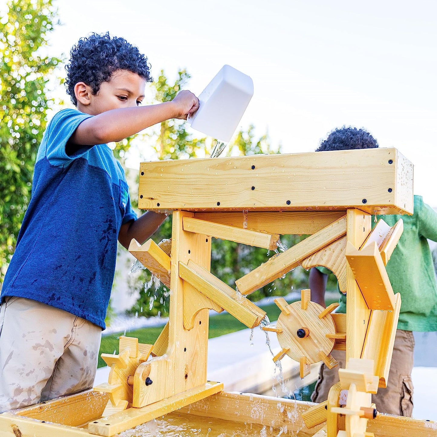
[[[402,298],[398,329],[437,331],[437,284],[427,239],[437,241],[437,213],[422,196],[414,196],[413,215],[378,216],[393,226],[399,218],[404,231],[387,263],[387,274],[393,291]],[[375,225],[375,223],[373,223]],[[318,267],[329,273],[325,267]],[[340,292],[337,284],[337,290]],[[346,312],[346,295],[340,292],[336,312]]]

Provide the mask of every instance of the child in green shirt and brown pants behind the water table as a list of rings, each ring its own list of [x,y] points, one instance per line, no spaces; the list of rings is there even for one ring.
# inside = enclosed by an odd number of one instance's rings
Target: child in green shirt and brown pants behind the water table
[[[337,128],[322,142],[317,152],[325,150],[371,149],[378,142],[363,129]],[[385,215],[383,220],[393,226],[400,218],[404,231],[386,269],[395,293],[400,293],[402,305],[396,330],[392,362],[386,388],[379,388],[372,395],[372,402],[382,413],[411,416],[413,413],[413,370],[414,336],[412,331],[437,330],[437,284],[434,266],[427,239],[437,241],[437,213],[422,196],[414,196],[413,215]],[[374,226],[376,223],[372,221]],[[311,300],[325,305],[325,291],[328,274],[325,267],[312,268],[309,272]],[[346,312],[346,295],[340,292],[336,312]],[[319,378],[311,399],[323,402],[328,398],[329,388],[339,381],[338,369],[346,366],[344,350],[333,350],[333,357],[339,365],[328,369],[322,364]]]

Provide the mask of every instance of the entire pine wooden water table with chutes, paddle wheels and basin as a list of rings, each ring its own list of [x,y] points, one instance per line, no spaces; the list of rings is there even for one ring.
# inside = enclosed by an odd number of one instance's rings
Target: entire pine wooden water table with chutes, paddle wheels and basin
[[[171,252],[152,240],[129,247],[170,288],[169,323],[153,345],[120,337],[119,354],[103,354],[108,383],[1,414],[0,437],[113,436],[156,418],[156,435],[437,436],[436,422],[378,414],[371,403],[388,378],[401,299],[385,264],[402,234],[402,220],[373,230],[371,220],[413,213],[413,166],[396,149],[142,163],[139,208],[173,212]],[[281,234],[308,237],[239,278],[238,291],[210,272],[212,237],[272,250]],[[268,323],[246,296],[298,265],[333,271],[347,314],[302,290],[300,302],[276,299],[281,315]],[[346,350],[329,399],[230,393],[207,381],[209,309],[276,334],[273,360],[298,361],[302,378]],[[155,435],[146,428],[123,435]]]

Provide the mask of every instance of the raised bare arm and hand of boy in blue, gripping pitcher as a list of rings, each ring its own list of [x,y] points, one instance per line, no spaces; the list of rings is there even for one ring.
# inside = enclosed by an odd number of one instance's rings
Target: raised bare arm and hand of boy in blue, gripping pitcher
[[[194,114],[198,108],[198,98],[183,90],[171,102],[111,109],[82,121],[69,143],[89,146],[121,141],[170,118],[186,120],[188,114]]]

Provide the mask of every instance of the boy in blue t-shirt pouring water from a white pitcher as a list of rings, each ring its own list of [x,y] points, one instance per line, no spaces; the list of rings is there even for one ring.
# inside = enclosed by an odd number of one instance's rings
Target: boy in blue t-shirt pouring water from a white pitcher
[[[66,66],[77,109],[59,111],[38,149],[32,198],[1,292],[0,411],[92,387],[117,239],[146,241],[165,215],[137,218],[108,142],[199,106],[190,91],[140,107],[147,58],[123,38],[81,38]]]

